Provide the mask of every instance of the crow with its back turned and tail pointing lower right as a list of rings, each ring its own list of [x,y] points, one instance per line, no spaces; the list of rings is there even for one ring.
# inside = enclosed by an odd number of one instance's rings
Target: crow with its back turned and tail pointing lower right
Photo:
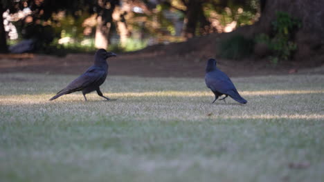
[[[216,67],[215,59],[208,59],[206,66],[205,82],[207,87],[210,88],[210,90],[212,90],[212,92],[215,94],[215,100],[213,101],[213,103],[222,94],[224,94],[225,97],[219,100],[224,100],[226,97],[229,96],[239,103],[247,103],[247,101],[243,99],[237,92],[231,79],[228,78],[224,72],[222,72]]]

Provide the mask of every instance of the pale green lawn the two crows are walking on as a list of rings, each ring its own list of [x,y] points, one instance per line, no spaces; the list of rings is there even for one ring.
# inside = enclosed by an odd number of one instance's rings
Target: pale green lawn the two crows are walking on
[[[324,75],[109,77],[48,101],[76,76],[0,74],[0,181],[324,181]]]

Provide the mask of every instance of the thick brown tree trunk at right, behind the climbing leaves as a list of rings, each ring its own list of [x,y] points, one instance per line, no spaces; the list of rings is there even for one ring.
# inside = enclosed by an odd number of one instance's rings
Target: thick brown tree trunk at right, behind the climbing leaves
[[[272,30],[271,22],[276,19],[276,12],[287,12],[302,22],[302,27],[297,30],[295,37],[298,45],[295,59],[309,59],[324,52],[323,0],[272,0],[262,3],[260,21],[253,26],[254,34],[261,32],[269,34]]]

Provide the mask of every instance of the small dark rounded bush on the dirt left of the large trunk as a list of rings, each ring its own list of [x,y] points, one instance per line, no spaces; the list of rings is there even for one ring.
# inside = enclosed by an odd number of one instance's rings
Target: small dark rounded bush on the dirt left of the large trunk
[[[248,57],[253,52],[254,41],[246,39],[237,34],[229,39],[222,41],[220,45],[220,56],[227,59],[241,59]]]

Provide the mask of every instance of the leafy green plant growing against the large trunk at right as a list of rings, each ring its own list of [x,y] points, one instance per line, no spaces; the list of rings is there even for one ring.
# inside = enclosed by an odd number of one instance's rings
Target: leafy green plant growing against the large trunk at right
[[[294,33],[301,27],[298,19],[290,17],[287,12],[277,12],[276,20],[272,22],[273,36],[268,34],[258,34],[255,41],[266,43],[273,51],[272,61],[278,63],[279,59],[287,60],[292,52],[297,50],[297,44],[293,41]]]

